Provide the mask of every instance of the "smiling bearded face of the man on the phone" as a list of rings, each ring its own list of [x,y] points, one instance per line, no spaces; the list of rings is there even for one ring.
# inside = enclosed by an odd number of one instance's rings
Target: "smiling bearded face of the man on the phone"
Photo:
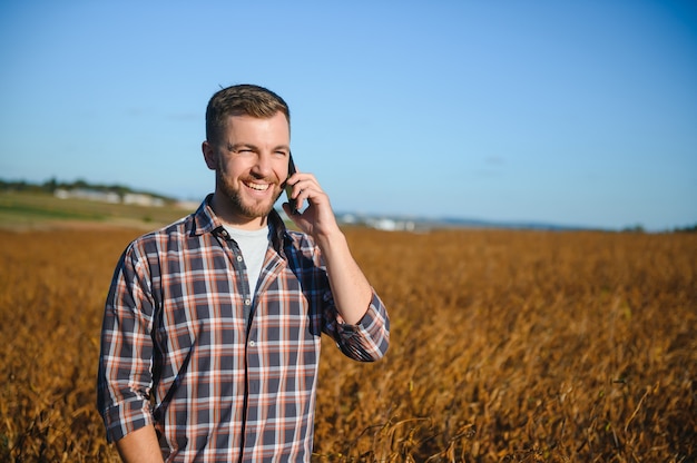
[[[216,195],[238,225],[266,217],[288,175],[291,134],[285,115],[268,119],[230,116],[219,142],[204,142],[209,169],[216,171]],[[223,213],[223,211],[222,211]]]

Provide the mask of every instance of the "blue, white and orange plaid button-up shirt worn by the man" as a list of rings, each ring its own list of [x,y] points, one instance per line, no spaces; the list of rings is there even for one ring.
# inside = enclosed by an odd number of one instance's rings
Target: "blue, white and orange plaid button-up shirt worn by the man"
[[[208,198],[127,247],[101,333],[109,441],[154,424],[166,461],[310,461],[321,333],[371,362],[387,349],[390,323],[373,292],[363,319],[345,324],[312,238],[275,211],[269,224],[254,293]]]

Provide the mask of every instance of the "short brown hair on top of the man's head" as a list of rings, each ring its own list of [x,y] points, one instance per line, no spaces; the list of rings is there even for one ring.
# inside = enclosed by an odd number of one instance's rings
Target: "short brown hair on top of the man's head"
[[[218,90],[208,101],[206,109],[206,139],[219,141],[229,116],[252,116],[261,119],[283,112],[288,127],[291,110],[278,95],[264,87],[243,83]]]

